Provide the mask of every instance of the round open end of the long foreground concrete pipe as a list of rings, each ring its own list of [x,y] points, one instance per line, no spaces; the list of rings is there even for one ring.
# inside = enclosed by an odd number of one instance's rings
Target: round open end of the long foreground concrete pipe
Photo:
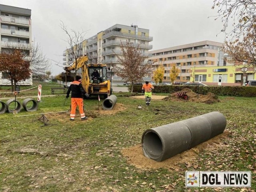
[[[163,153],[163,144],[158,134],[152,132],[152,130],[148,130],[142,138],[143,150],[145,150],[144,154],[149,156],[148,158],[159,158]]]

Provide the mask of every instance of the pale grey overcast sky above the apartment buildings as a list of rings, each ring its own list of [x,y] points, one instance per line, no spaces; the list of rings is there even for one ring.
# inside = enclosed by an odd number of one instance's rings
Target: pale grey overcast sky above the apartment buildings
[[[53,75],[62,72],[68,46],[60,20],[85,38],[115,24],[149,29],[152,50],[203,40],[223,42],[221,20],[214,20],[213,0],[1,0],[0,4],[31,9],[32,38],[51,61]],[[218,36],[216,36],[218,34]]]

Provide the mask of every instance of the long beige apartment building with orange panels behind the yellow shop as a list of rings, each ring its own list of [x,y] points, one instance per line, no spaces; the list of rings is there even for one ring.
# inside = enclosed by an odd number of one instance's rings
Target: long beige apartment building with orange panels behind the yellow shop
[[[190,81],[191,68],[204,66],[224,66],[223,44],[213,41],[201,41],[170,48],[150,51],[152,54],[148,60],[153,62],[154,67],[163,64],[163,82],[170,82],[170,69],[176,66],[179,70],[177,82]],[[152,78],[152,80],[154,80]]]

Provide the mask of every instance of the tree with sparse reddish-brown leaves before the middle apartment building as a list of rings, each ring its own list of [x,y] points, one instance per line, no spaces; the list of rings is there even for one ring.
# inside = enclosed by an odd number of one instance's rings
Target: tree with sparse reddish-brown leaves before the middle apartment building
[[[132,42],[126,41],[126,44],[121,43],[122,56],[118,57],[118,62],[122,67],[116,67],[116,74],[124,80],[128,80],[132,84],[131,92],[135,82],[141,81],[142,78],[149,74],[152,70],[152,65],[144,63],[145,58],[141,56],[140,45],[134,46]]]

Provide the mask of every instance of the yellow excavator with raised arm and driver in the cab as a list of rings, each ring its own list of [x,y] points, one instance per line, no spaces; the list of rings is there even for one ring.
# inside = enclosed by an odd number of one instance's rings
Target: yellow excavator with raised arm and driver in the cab
[[[74,81],[74,73],[77,69],[77,74],[82,77],[82,86],[88,96],[103,95],[107,98],[112,94],[111,81],[108,80],[107,66],[105,64],[88,64],[88,56],[78,58],[77,66],[73,63],[64,68],[66,72],[62,72],[62,81]],[[80,72],[80,69],[82,72]],[[97,72],[97,76],[93,73]]]

